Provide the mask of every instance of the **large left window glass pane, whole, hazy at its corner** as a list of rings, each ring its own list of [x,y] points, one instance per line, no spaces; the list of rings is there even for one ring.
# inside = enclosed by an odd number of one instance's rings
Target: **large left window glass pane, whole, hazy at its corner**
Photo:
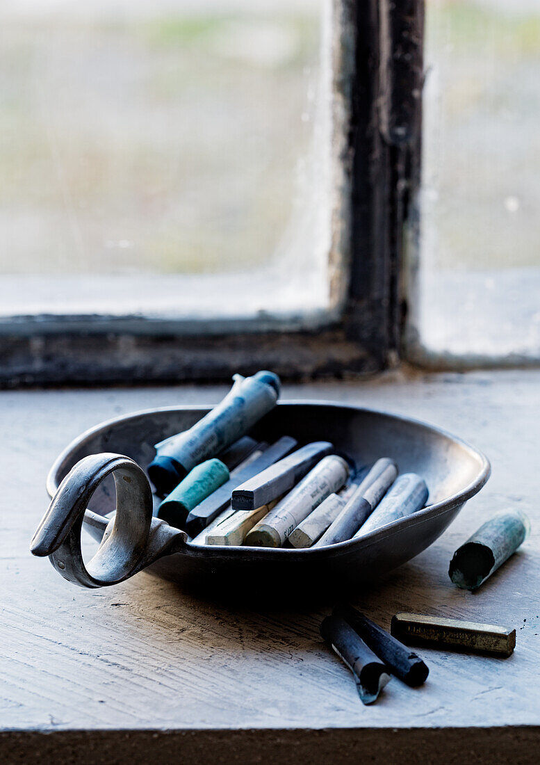
[[[2,314],[324,308],[328,15],[2,0]]]

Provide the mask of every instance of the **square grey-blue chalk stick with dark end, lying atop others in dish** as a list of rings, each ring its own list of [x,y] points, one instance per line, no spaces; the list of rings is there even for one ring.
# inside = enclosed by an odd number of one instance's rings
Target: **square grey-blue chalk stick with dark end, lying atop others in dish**
[[[235,510],[254,510],[283,496],[314,465],[333,450],[329,441],[315,441],[267,467],[233,491]]]

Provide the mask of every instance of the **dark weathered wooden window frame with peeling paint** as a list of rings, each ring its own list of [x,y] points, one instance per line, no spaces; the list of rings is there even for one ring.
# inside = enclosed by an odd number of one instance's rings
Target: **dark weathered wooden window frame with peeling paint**
[[[331,310],[256,321],[14,317],[0,323],[0,386],[217,381],[264,367],[288,379],[375,373],[399,358],[403,243],[417,236],[423,0],[333,0]],[[339,113],[338,113],[339,112]]]

